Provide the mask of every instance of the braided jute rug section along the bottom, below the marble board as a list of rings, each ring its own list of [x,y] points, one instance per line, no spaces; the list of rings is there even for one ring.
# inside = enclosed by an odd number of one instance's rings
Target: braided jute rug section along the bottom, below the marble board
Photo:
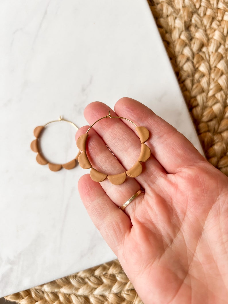
[[[5,299],[21,304],[142,303],[117,260],[9,295]]]

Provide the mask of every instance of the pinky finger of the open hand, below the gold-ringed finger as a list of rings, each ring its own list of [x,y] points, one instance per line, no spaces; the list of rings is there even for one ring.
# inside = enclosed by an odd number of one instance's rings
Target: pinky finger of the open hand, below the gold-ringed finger
[[[102,186],[89,174],[78,181],[78,190],[88,215],[112,251],[118,255],[125,237],[130,233],[130,218],[112,202]]]

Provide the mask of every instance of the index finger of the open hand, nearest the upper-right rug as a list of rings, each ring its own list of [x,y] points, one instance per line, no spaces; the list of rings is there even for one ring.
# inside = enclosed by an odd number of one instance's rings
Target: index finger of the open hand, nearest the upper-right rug
[[[184,135],[142,103],[124,97],[116,102],[114,109],[117,115],[127,116],[150,130],[151,153],[168,173],[206,161]]]

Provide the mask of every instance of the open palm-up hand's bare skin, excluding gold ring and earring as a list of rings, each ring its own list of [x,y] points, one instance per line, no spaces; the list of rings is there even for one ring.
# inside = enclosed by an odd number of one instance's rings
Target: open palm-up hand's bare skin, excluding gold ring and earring
[[[122,185],[81,177],[78,189],[95,226],[144,304],[228,303],[228,178],[140,102],[121,98],[115,112],[93,102],[84,115],[92,124],[108,110],[150,131],[151,156],[142,174]],[[96,123],[87,147],[94,168],[107,174],[131,168],[140,154],[134,129],[121,119]],[[141,187],[145,193],[120,210]]]

